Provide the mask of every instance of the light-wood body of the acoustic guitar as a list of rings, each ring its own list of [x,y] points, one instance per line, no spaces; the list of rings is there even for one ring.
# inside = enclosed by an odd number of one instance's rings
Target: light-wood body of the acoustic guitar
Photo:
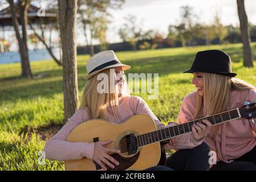
[[[67,137],[68,142],[97,142],[112,140],[105,147],[118,148],[121,154],[109,154],[120,165],[107,170],[143,170],[165,163],[165,153],[161,158],[160,142],[152,143],[141,148],[135,142],[136,135],[156,131],[155,122],[146,114],[137,114],[119,125],[109,123],[103,119],[92,119],[75,127]],[[135,143],[134,143],[135,142]],[[120,148],[121,147],[121,148]],[[161,151],[162,150],[162,151]],[[100,166],[90,159],[68,160],[65,162],[66,170],[102,170]]]

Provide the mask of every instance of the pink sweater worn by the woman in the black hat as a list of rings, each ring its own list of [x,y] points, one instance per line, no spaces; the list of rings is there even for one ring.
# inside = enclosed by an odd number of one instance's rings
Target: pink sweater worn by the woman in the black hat
[[[182,102],[178,123],[184,123],[193,120],[196,108],[197,92],[188,94]],[[245,101],[256,100],[254,90],[231,92],[229,110],[243,106]],[[221,160],[226,163],[232,162],[243,154],[246,154],[256,146],[256,125],[253,125],[247,119],[235,119],[221,125],[217,140],[212,140],[213,133],[210,133],[204,140],[211,150],[217,152],[217,161]]]

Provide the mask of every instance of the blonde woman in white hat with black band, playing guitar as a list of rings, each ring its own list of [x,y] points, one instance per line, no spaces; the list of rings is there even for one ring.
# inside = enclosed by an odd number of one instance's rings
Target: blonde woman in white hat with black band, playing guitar
[[[70,131],[78,126],[79,123],[89,119],[100,118],[120,124],[139,113],[148,114],[159,127],[164,127],[164,125],[152,113],[147,103],[141,97],[130,96],[124,71],[131,67],[121,64],[113,51],[103,51],[92,56],[88,60],[86,68],[88,72],[86,76],[87,82],[83,89],[80,109],[46,143],[44,152],[46,153],[46,158],[52,160],[65,161],[86,157],[87,159],[94,160],[103,169],[107,169],[105,165],[115,168],[115,165],[119,165],[119,162],[108,155],[107,152],[119,153],[119,150],[104,147],[105,144],[111,143],[111,141],[95,143],[67,142],[66,138]],[[105,73],[103,76],[107,76],[105,81],[108,84],[108,92],[100,93],[99,85],[101,80],[97,78],[100,73]],[[118,78],[115,84],[111,84],[111,78],[113,77]],[[150,169],[169,170],[165,166],[156,166]]]

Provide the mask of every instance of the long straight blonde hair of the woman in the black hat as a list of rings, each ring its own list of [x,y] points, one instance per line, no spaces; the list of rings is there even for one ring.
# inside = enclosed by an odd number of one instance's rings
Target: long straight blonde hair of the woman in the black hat
[[[229,107],[232,90],[256,90],[255,86],[239,78],[212,73],[202,73],[202,75],[204,79],[204,96],[197,94],[194,119],[226,111]],[[216,139],[221,125],[213,126],[214,139]]]

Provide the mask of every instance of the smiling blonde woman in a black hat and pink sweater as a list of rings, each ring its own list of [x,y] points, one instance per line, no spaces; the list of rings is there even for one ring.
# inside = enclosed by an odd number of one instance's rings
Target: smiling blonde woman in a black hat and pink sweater
[[[178,123],[235,109],[245,101],[256,100],[256,88],[234,78],[237,74],[231,71],[230,56],[223,51],[198,52],[192,68],[185,73],[193,73],[192,84],[197,90],[184,98]],[[243,118],[213,126],[204,138],[210,150],[217,154],[217,164],[211,169],[256,170],[255,133],[254,122]]]

